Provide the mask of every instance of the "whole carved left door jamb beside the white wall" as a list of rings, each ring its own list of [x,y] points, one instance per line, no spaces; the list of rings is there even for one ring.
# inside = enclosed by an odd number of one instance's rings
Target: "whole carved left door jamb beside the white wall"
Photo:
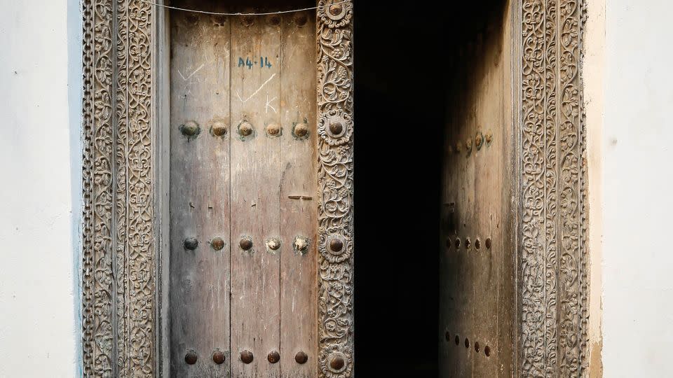
[[[154,376],[151,5],[83,1],[83,367]]]

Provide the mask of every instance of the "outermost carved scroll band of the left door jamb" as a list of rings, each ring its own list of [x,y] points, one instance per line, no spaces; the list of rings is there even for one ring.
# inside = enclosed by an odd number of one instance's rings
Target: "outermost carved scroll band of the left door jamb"
[[[113,130],[112,130],[112,78],[113,62],[113,12],[109,1],[94,1],[86,7],[89,12],[85,18],[93,22],[90,29],[90,38],[93,49],[90,52],[91,78],[90,88],[84,99],[85,110],[90,110],[91,118],[85,118],[85,143],[90,137],[91,173],[84,176],[85,204],[83,216],[90,211],[91,230],[87,230],[85,223],[83,286],[90,286],[93,297],[84,296],[84,309],[91,309],[92,313],[85,312],[83,319],[85,326],[84,358],[85,374],[91,377],[112,377],[114,369],[114,276],[112,274],[113,251],[113,216],[112,216],[112,186],[113,186]],[[85,24],[87,25],[87,24]],[[86,34],[85,34],[86,38]],[[85,53],[86,54],[86,53]],[[86,55],[85,55],[86,56]],[[85,148],[87,148],[85,147]],[[87,152],[85,150],[85,159]],[[90,180],[88,183],[87,181]],[[86,197],[86,188],[90,185],[90,197]],[[89,235],[86,235],[90,232]],[[87,245],[87,243],[90,243]]]

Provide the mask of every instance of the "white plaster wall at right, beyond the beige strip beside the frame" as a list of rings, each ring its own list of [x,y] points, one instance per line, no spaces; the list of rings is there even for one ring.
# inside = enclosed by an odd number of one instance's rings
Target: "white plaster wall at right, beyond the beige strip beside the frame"
[[[605,3],[604,377],[673,377],[673,2]]]

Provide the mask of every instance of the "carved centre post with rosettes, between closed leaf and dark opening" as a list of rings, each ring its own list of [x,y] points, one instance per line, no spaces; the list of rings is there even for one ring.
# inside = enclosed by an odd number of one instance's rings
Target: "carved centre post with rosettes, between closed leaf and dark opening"
[[[320,377],[353,376],[353,3],[318,1]],[[333,122],[341,132],[329,130]],[[343,242],[340,251],[329,242]],[[339,362],[343,363],[339,363]]]

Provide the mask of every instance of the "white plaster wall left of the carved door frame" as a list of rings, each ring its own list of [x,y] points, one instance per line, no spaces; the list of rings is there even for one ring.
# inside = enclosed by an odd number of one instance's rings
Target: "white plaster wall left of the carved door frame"
[[[0,0],[0,377],[79,373],[78,0]]]

